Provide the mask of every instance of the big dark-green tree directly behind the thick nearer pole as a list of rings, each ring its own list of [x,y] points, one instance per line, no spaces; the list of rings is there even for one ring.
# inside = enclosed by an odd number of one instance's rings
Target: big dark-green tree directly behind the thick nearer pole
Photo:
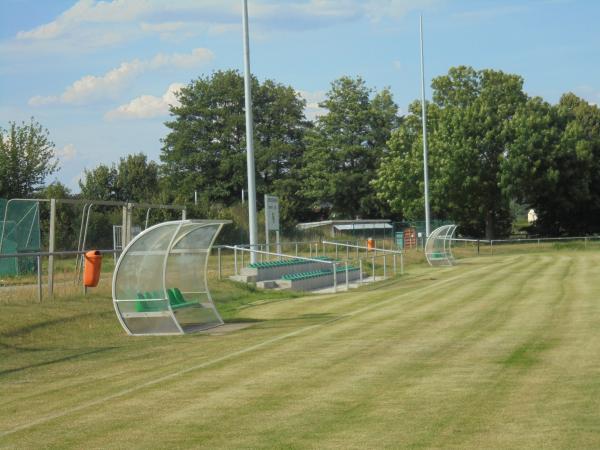
[[[253,78],[252,93],[258,201],[264,193],[290,196],[308,126],[305,102],[272,80]],[[180,91],[179,102],[160,156],[166,189],[178,202],[194,191],[207,206],[238,202],[246,188],[243,77],[234,70],[200,77]]]

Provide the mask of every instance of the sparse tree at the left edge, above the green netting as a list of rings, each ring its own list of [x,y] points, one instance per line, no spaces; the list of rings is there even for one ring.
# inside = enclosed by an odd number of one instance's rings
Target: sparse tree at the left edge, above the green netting
[[[0,197],[30,197],[57,169],[49,132],[33,118],[0,128]]]

